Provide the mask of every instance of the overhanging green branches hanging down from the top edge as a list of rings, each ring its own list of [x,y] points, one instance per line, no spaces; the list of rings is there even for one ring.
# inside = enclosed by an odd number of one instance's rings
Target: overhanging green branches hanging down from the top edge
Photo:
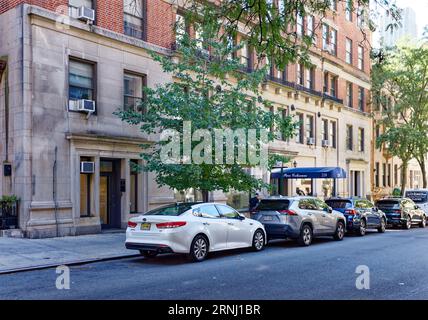
[[[182,0],[177,3],[183,3]],[[187,19],[190,23],[206,20],[224,22],[221,36],[234,37],[242,27],[246,27],[247,42],[253,47],[257,56],[273,57],[275,64],[284,68],[288,63],[300,61],[310,64],[308,49],[314,42],[314,35],[296,35],[297,15],[314,15],[326,17],[337,14],[330,9],[331,0],[223,0],[221,5],[209,4],[207,1],[185,0],[188,8]],[[336,0],[338,10],[346,6],[349,0]],[[368,10],[369,3],[372,8]],[[391,0],[351,0],[350,10],[364,17],[364,26],[360,28],[364,42],[370,47],[366,27],[373,31],[374,20],[381,11],[386,11],[393,19],[388,29],[397,28],[400,21],[400,10]],[[374,9],[374,8],[377,8]],[[361,11],[362,10],[362,11]],[[321,23],[314,25],[320,28]]]

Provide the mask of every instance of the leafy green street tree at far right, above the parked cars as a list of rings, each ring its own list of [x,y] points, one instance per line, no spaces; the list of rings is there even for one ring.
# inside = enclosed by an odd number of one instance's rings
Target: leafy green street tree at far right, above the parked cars
[[[378,53],[372,70],[372,90],[376,103],[384,109],[385,133],[378,142],[389,145],[391,153],[403,161],[403,170],[415,158],[426,188],[428,47],[404,44]]]

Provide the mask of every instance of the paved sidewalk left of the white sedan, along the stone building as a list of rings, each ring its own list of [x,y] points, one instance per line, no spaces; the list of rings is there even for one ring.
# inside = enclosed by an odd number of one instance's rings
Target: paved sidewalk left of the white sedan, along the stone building
[[[0,238],[0,274],[135,256],[125,249],[125,233],[64,238]]]

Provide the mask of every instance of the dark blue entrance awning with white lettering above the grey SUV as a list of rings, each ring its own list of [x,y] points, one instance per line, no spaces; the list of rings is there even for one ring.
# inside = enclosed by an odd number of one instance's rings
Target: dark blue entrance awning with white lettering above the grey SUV
[[[284,168],[282,170],[285,179],[345,179],[346,171],[340,167],[306,167],[306,168]],[[281,169],[271,172],[272,179],[281,177]]]

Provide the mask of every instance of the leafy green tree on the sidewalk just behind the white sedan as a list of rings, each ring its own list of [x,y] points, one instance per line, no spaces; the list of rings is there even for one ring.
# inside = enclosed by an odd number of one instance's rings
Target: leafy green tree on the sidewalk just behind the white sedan
[[[139,108],[144,112],[116,113],[147,135],[161,135],[143,146],[142,169],[154,172],[160,186],[199,189],[204,201],[209,191],[268,187],[249,170],[263,165],[269,170],[276,160],[286,161],[267,155],[265,147],[275,130],[284,137],[295,131],[292,118],[270,112],[271,103],[261,96],[266,68],[243,72],[234,58],[240,47],[219,40],[220,29],[221,23],[206,17],[198,30],[203,40],[184,33],[174,57],[152,54],[175,81],[146,88]],[[264,156],[266,162],[258,162]]]

